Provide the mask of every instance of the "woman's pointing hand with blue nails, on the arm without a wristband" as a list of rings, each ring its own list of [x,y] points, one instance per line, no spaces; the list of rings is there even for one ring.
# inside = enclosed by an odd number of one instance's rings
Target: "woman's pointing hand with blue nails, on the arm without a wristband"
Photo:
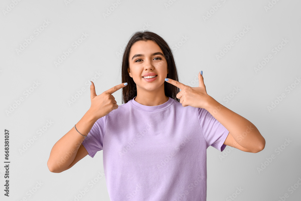
[[[187,86],[170,78],[168,78],[168,81],[166,82],[171,83],[172,85],[181,89],[176,97],[180,99],[180,103],[182,103],[183,107],[189,105],[195,108],[206,108],[208,101],[211,98],[211,96],[209,96],[206,92],[204,78],[200,73],[198,87]]]

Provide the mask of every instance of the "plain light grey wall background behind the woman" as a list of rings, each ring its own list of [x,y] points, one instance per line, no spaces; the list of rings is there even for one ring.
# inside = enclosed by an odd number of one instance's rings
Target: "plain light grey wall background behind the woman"
[[[16,1],[17,2],[17,1]],[[65,1],[66,2],[66,1]],[[87,81],[94,78],[99,95],[121,83],[121,56],[116,52],[128,42],[132,33],[151,30],[162,36],[173,48],[180,82],[198,86],[197,74],[203,71],[207,93],[227,108],[251,121],[265,137],[265,149],[248,153],[229,146],[223,152],[207,149],[207,200],[286,200],[301,197],[300,149],[300,90],[293,85],[300,77],[301,2],[287,1],[123,1],[109,16],[103,13],[117,1],[79,1],[67,4],[60,1],[3,0],[1,7],[1,146],[0,162],[4,164],[4,129],[10,131],[10,197],[1,191],[1,200],[75,200],[80,191],[88,192],[79,199],[110,200],[103,172],[102,151],[92,159],[86,156],[71,169],[51,173],[47,168],[50,150],[76,124],[90,107]],[[217,11],[212,6],[217,4]],[[273,5],[271,9],[265,7]],[[166,7],[167,4],[170,6]],[[8,13],[3,10],[9,10]],[[212,16],[203,19],[207,11]],[[35,34],[48,20],[50,24]],[[44,24],[46,25],[46,24]],[[241,33],[244,26],[250,27]],[[72,46],[82,33],[89,36],[76,48]],[[239,41],[236,34],[242,34]],[[20,45],[34,40],[17,53]],[[182,37],[188,39],[181,43]],[[274,55],[272,49],[288,42]],[[184,41],[184,40],[183,40]],[[216,55],[225,45],[234,46],[219,60]],[[178,48],[176,48],[178,44]],[[281,46],[281,45],[280,45]],[[54,61],[69,48],[73,52],[55,67]],[[257,73],[254,68],[263,58],[272,59]],[[101,76],[97,76],[97,73]],[[40,84],[29,96],[34,82]],[[288,93],[287,86],[294,86]],[[69,105],[68,100],[84,87],[85,91]],[[239,92],[232,96],[234,87]],[[274,109],[271,102],[284,93]],[[121,90],[113,94],[121,105]],[[225,101],[226,96],[231,100]],[[24,101],[6,114],[21,97]],[[14,105],[16,106],[16,105]],[[54,122],[45,127],[47,121]],[[42,135],[36,132],[47,128]],[[25,152],[20,149],[33,136],[37,140]],[[286,139],[291,140],[285,146]],[[275,149],[281,147],[281,152]],[[228,153],[227,153],[228,152]],[[220,158],[222,154],[224,158]],[[279,154],[280,153],[280,154]],[[268,162],[272,154],[275,158]],[[258,171],[262,164],[268,164]],[[4,185],[4,165],[0,167],[1,189]],[[116,173],[118,174],[118,173]],[[91,180],[97,181],[92,187]],[[42,186],[29,197],[37,182]],[[301,182],[301,179],[299,183]],[[290,186],[299,187],[289,191]],[[301,184],[301,183],[300,183]],[[240,194],[237,188],[243,189]],[[80,196],[79,196],[80,197]]]

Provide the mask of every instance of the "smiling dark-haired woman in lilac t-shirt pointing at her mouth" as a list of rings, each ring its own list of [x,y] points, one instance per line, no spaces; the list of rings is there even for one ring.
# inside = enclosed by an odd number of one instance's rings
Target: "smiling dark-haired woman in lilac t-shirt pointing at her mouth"
[[[256,153],[265,139],[209,96],[202,71],[198,76],[198,87],[178,82],[166,41],[153,32],[134,33],[123,54],[123,83],[96,95],[91,82],[91,107],[55,143],[49,170],[65,171],[103,150],[111,200],[206,200],[206,149],[228,145]],[[118,106],[112,93],[121,88]]]

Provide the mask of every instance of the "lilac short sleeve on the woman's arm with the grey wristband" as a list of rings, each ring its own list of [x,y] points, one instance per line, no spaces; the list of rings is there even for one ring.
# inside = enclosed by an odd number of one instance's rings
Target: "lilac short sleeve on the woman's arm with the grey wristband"
[[[82,141],[82,145],[85,147],[89,156],[91,156],[92,158],[94,157],[96,152],[102,150],[106,117],[107,116],[99,118],[92,126],[87,137],[85,137],[84,141]]]

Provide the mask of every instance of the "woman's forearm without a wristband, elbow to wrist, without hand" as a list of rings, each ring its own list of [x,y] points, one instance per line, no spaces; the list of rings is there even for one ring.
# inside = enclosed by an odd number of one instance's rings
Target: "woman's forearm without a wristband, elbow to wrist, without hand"
[[[265,146],[265,139],[254,124],[211,96],[208,97],[205,109],[231,133],[240,146],[249,150],[263,149]]]

